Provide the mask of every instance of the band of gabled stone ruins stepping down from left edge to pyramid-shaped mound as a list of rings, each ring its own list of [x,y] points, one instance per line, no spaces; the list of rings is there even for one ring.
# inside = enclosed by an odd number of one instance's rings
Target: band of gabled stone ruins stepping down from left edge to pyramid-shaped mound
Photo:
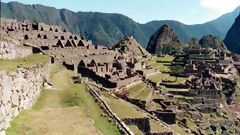
[[[33,53],[51,56],[52,63],[93,78],[107,88],[125,87],[141,79],[139,72],[145,73],[142,75],[154,72],[136,59],[150,55],[133,37],[125,37],[121,45],[109,49],[59,26],[11,19],[1,19],[1,33],[32,47]],[[122,45],[129,49],[121,51]]]

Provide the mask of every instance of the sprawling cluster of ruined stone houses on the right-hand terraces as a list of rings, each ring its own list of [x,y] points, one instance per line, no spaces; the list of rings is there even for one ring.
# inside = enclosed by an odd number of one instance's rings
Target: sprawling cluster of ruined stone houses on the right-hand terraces
[[[216,113],[219,111],[223,84],[228,80],[229,75],[237,73],[237,61],[240,60],[228,52],[213,49],[184,48],[183,52],[184,54],[175,56],[172,64],[183,66],[183,72],[176,75],[187,78],[186,85],[184,85],[186,90],[176,85],[173,90],[169,91],[170,94],[180,95],[183,98],[179,98],[178,104],[174,103],[174,100],[153,100],[160,104],[162,109],[154,110],[152,113],[169,124],[176,123],[177,119],[184,120],[185,117],[189,117],[189,113],[194,114],[191,116],[194,120],[200,120],[202,116],[199,112]],[[190,102],[193,106],[188,106],[184,102]]]

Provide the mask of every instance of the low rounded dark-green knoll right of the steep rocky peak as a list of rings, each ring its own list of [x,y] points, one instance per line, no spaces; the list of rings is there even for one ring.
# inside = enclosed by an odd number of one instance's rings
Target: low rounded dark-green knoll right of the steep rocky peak
[[[220,38],[212,35],[203,36],[200,39],[199,44],[203,48],[227,50],[224,42]]]

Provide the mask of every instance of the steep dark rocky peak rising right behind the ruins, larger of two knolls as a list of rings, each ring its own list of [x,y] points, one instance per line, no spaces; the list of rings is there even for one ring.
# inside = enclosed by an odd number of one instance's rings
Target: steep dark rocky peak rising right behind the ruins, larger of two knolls
[[[181,43],[178,36],[168,25],[163,25],[150,38],[147,51],[152,54],[165,54],[178,51]]]

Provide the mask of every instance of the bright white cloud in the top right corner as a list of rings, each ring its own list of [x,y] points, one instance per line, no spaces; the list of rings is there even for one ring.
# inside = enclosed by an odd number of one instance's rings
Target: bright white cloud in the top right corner
[[[240,5],[240,0],[201,0],[201,6],[218,14],[233,11]]]

